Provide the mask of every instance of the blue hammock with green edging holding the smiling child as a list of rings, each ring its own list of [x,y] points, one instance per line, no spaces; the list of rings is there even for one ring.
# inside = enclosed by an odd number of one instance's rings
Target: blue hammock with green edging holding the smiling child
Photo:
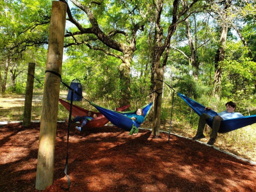
[[[120,112],[120,111],[114,111],[111,109],[98,106],[92,102],[90,102],[90,104],[94,106],[99,112],[101,112],[113,125],[119,128],[122,128],[126,131],[129,131],[130,134],[138,132],[140,123],[132,120],[127,116],[124,116],[124,114],[127,114],[127,115],[136,114],[136,110],[132,110],[128,112]],[[153,103],[150,103],[142,107],[144,118],[146,118],[146,116],[150,112],[150,109],[152,108],[152,104]]]

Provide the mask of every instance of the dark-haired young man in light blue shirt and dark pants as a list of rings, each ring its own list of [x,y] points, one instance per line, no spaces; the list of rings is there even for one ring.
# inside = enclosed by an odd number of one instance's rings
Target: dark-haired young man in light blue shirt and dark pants
[[[210,110],[212,108],[206,107],[204,110]],[[199,122],[198,122],[198,128],[197,128],[197,133],[196,136],[194,136],[192,139],[193,140],[198,140],[205,138],[203,132],[204,132],[204,126],[206,124],[206,121],[209,120],[210,118],[213,118],[212,122],[212,133],[210,135],[210,140],[207,142],[208,145],[213,145],[216,142],[217,138],[217,133],[220,128],[220,123],[222,120],[225,119],[232,119],[232,118],[238,118],[242,117],[243,115],[235,112],[236,110],[236,104],[232,101],[226,103],[226,110],[218,113],[218,115],[211,117],[206,113],[202,113],[200,116]]]

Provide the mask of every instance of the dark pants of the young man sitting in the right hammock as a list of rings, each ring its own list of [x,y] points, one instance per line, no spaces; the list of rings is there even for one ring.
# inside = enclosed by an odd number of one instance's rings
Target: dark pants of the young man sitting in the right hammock
[[[198,128],[197,128],[197,133],[196,134],[204,134],[204,126],[206,124],[206,121],[208,119],[212,118],[210,115],[203,113],[200,116],[199,122],[198,122]],[[222,117],[221,116],[214,116],[213,118],[213,122],[212,122],[212,133],[210,135],[210,138],[212,139],[216,139],[217,138],[217,134],[218,134],[218,130],[220,128],[220,123],[222,121]]]

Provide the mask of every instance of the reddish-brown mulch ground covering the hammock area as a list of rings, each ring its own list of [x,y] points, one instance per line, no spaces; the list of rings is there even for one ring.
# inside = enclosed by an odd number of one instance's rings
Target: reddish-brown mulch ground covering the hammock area
[[[0,128],[0,191],[37,191],[40,124]],[[58,123],[54,182],[44,191],[64,191],[67,127]],[[148,130],[129,136],[120,128],[70,131],[70,191],[256,191],[256,166],[193,140]]]

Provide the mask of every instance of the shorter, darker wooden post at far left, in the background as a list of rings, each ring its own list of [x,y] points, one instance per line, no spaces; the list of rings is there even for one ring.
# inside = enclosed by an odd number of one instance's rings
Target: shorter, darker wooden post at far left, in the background
[[[31,110],[32,110],[32,97],[34,88],[34,74],[35,74],[35,63],[28,63],[28,76],[27,76],[27,86],[26,95],[24,102],[24,113],[23,113],[23,123],[22,126],[30,126],[31,121]],[[33,75],[33,76],[32,76]]]

